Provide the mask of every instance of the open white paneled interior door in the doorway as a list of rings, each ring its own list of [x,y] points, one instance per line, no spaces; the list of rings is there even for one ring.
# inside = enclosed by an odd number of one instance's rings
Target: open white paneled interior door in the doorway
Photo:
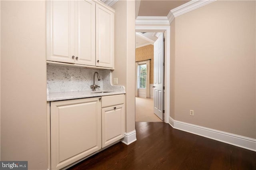
[[[154,113],[164,121],[164,34],[154,42]]]

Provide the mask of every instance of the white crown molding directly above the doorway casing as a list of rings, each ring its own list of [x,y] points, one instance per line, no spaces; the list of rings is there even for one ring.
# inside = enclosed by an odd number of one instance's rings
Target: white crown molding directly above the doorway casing
[[[135,20],[135,25],[169,25],[169,20],[166,16],[138,16]]]

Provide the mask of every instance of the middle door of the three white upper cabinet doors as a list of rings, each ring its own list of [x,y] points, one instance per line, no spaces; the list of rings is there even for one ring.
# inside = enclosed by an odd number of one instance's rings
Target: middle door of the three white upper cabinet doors
[[[75,63],[95,65],[95,2],[77,1],[75,10]]]

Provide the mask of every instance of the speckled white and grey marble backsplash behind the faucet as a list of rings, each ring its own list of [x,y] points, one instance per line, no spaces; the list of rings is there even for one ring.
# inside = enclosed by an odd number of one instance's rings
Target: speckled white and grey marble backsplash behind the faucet
[[[111,85],[110,70],[47,65],[48,91],[49,93],[91,91],[90,85],[93,84],[93,74],[95,71],[100,75],[100,81],[95,76],[95,84],[100,86],[96,90],[124,91],[123,86]]]

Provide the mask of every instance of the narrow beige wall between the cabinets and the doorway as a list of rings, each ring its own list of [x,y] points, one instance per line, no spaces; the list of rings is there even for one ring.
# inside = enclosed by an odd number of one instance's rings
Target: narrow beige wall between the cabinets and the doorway
[[[126,132],[135,130],[135,1],[118,1],[115,12],[115,70],[126,90]]]

